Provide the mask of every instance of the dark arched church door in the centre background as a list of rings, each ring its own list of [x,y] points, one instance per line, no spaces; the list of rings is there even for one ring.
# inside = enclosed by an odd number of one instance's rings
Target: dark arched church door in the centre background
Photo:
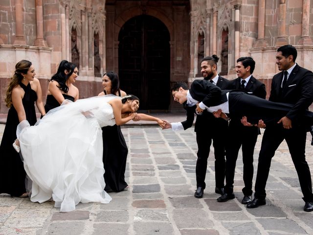
[[[140,99],[140,110],[168,110],[170,34],[156,17],[128,20],[118,35],[120,87]]]

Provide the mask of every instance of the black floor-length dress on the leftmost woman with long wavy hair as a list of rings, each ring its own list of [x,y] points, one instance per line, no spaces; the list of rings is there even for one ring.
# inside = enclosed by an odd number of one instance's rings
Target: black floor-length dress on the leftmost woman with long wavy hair
[[[34,125],[37,121],[35,111],[37,94],[31,89],[30,83],[27,86],[20,83],[20,86],[25,91],[22,103],[26,119],[30,125]],[[19,123],[17,111],[12,105],[8,112],[0,145],[0,193],[7,193],[11,196],[21,196],[26,192],[24,166],[19,153],[12,146],[16,140],[16,129]]]

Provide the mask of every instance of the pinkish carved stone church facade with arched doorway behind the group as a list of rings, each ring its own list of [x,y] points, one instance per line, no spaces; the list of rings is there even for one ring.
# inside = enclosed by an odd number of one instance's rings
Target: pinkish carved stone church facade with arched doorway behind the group
[[[102,75],[116,71],[141,109],[171,111],[178,108],[171,84],[201,78],[201,58],[212,54],[228,79],[239,57],[252,56],[253,75],[269,92],[276,49],[285,44],[313,70],[313,0],[1,0],[0,113],[22,59],[34,64],[44,100],[67,59],[79,68],[80,98],[99,94]]]

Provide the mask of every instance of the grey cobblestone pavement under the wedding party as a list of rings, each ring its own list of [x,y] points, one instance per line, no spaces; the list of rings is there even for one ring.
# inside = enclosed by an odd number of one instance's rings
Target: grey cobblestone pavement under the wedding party
[[[0,136],[3,129],[1,124]],[[246,209],[241,204],[241,156],[234,200],[216,201],[213,148],[204,197],[196,199],[193,128],[172,132],[129,125],[122,131],[129,147],[128,191],[110,193],[109,204],[80,203],[76,211],[67,213],[53,208],[53,202],[32,203],[28,198],[1,194],[0,235],[313,235],[313,212],[303,211],[302,193],[286,143],[272,161],[267,205]],[[261,138],[254,155],[255,172]],[[313,147],[309,143],[311,136],[306,151],[313,171]]]

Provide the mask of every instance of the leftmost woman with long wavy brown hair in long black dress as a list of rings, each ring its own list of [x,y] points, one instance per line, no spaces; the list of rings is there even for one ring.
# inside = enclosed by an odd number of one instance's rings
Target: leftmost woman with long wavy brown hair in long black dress
[[[22,120],[27,120],[30,125],[36,123],[35,102],[42,115],[45,115],[45,109],[32,63],[22,60],[15,69],[5,94],[6,106],[10,109],[0,144],[0,193],[26,197],[26,173],[21,157],[12,144],[16,140],[17,126]]]

